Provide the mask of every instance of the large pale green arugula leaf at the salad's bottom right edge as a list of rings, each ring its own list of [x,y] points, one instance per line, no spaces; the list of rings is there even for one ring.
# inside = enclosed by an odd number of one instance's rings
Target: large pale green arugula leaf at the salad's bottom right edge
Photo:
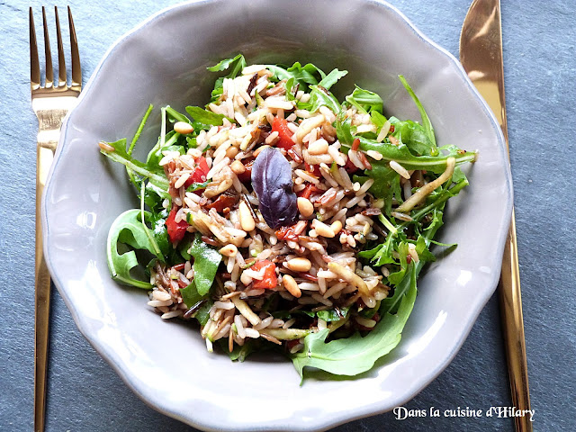
[[[311,333],[304,338],[303,352],[292,356],[293,364],[303,379],[305,367],[316,367],[330,374],[354,376],[370,370],[374,363],[390,353],[401,340],[416,300],[416,267],[410,266],[404,284],[408,289],[402,295],[396,314],[381,314],[382,320],[365,337],[355,333],[350,338],[326,343],[329,329]]]

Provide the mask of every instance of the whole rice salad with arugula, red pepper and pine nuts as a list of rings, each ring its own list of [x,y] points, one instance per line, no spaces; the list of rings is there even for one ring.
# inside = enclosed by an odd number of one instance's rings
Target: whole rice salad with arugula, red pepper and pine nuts
[[[242,55],[209,70],[227,71],[211,102],[161,108],[145,162],[132,150],[151,105],[130,145],[99,143],[140,200],[110,229],[112,278],[147,290],[162,319],[197,320],[209,351],[279,347],[301,376],[365,372],[399,343],[446,201],[468,184],[459,165],[476,154],[437,147],[403,76],[421,123],[386,118],[357,86],[338,102],[330,88],[347,71]]]

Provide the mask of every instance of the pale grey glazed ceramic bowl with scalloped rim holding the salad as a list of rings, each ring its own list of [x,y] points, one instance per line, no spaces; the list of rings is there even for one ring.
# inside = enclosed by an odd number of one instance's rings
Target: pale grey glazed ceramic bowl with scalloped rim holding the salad
[[[109,276],[108,228],[137,202],[123,167],[105,160],[96,143],[131,137],[148,103],[202,105],[214,79],[206,67],[238,52],[249,63],[300,60],[345,68],[349,75],[338,84],[343,92],[356,83],[381,94],[389,114],[419,119],[397,78],[402,74],[441,145],[480,150],[467,169],[471,185],[448,204],[438,238],[459,246],[421,277],[400,346],[356,379],[309,380],[301,387],[289,361],[260,357],[240,364],[209,354],[196,330],[160,320],[145,293]],[[152,120],[140,146],[156,141],[158,115]],[[140,24],[96,68],[65,121],[49,176],[45,253],[78,328],[157,410],[202,429],[319,430],[392,410],[448,365],[497,283],[511,195],[502,135],[487,105],[457,60],[392,6],[200,1]]]

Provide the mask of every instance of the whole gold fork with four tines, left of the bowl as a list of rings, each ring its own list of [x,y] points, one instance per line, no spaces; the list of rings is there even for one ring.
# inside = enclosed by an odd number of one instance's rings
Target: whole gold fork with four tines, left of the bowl
[[[82,71],[76,40],[76,30],[72,13],[68,6],[68,24],[70,28],[70,48],[72,59],[72,81],[67,85],[66,60],[62,45],[62,34],[58,19],[58,8],[54,6],[56,16],[56,36],[58,39],[58,83],[54,83],[52,56],[46,10],[42,6],[44,27],[44,53],[46,58],[45,84],[40,85],[40,61],[36,44],[34,17],[30,8],[30,81],[32,110],[38,117],[38,147],[36,148],[36,260],[35,260],[35,329],[34,329],[34,430],[44,430],[44,410],[46,402],[46,370],[48,363],[50,275],[42,249],[42,228],[40,221],[40,201],[54,151],[58,145],[60,126],[67,112],[76,104],[76,98],[82,89]]]

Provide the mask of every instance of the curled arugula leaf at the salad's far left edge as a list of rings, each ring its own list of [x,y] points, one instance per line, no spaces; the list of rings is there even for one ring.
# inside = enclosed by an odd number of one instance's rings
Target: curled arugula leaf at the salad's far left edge
[[[149,217],[150,213],[144,211],[144,217]],[[148,237],[147,228],[142,224],[140,210],[132,209],[124,211],[112,222],[106,240],[106,258],[112,279],[120,282],[148,290],[152,284],[148,281],[135,279],[130,275],[130,270],[139,265],[134,250],[120,253],[119,243],[128,245],[133,249],[148,250],[149,253],[163,261],[164,257],[157,253],[157,247]]]

